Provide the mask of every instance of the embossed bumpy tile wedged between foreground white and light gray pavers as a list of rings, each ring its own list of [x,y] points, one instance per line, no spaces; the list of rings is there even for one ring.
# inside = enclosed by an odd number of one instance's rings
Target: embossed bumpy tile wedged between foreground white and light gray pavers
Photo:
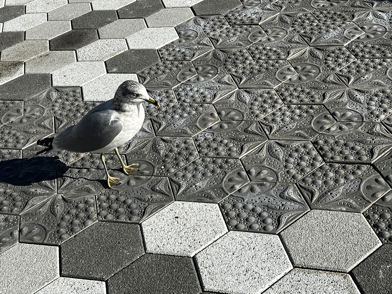
[[[294,184],[250,182],[219,203],[231,230],[278,233],[309,211]]]

